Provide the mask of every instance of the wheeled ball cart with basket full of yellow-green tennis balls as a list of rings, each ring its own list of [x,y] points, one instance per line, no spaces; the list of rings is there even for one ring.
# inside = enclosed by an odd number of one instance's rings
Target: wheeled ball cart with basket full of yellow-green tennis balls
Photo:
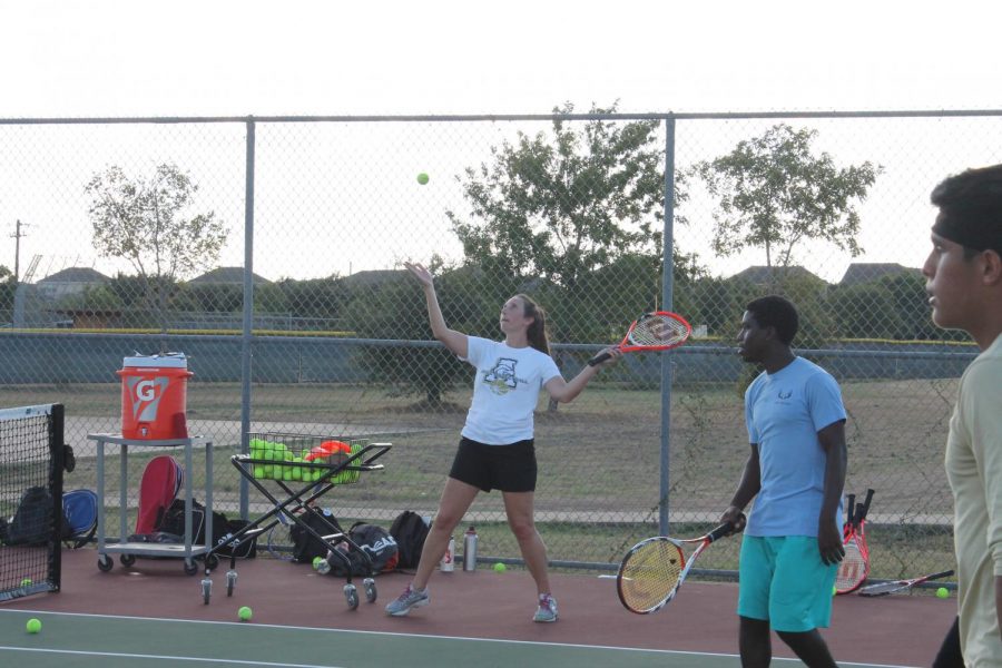
[[[262,536],[268,538],[269,550],[282,550],[282,559],[291,560],[289,528],[297,525],[327,547],[327,560],[344,564],[344,597],[348,608],[358,607],[358,592],[352,582],[352,561],[348,552],[361,557],[366,566],[363,580],[365,599],[376,600],[372,560],[365,550],[355,544],[346,533],[336,531],[321,534],[306,522],[307,512],[314,512],[313,503],[334,488],[356,483],[364,472],[382,471],[376,463],[390,451],[390,443],[370,443],[367,439],[344,439],[330,435],[293,434],[278,432],[248,433],[250,452],[235,454],[230,463],[248,483],[267,499],[273,508],[239,531],[228,533],[213,546],[205,560],[205,578],[202,596],[206,605],[212,598],[212,564],[218,562],[215,552],[229,554],[226,573],[226,596],[233,596],[236,587],[236,556],[240,543]],[[271,489],[269,489],[271,488]]]

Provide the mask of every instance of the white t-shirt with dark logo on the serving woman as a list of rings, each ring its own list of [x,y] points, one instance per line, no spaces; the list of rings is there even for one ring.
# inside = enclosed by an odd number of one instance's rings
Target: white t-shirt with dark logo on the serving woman
[[[488,445],[508,445],[531,439],[539,393],[560,375],[553,358],[527,346],[466,337],[465,361],[477,369],[473,401],[462,434]]]

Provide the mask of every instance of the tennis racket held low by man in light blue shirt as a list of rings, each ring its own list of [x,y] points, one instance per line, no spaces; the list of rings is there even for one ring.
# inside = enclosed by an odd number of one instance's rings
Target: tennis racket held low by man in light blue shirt
[[[714,541],[734,533],[734,524],[724,523],[699,538],[676,539],[657,536],[642,540],[627,552],[616,576],[619,601],[630,612],[657,612],[675,598],[692,564]],[[696,547],[688,559],[682,548]]]

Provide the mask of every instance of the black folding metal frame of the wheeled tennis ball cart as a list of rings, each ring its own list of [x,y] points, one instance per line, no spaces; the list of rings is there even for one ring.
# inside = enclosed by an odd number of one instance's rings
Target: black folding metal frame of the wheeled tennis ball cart
[[[313,436],[304,434],[252,434],[254,439],[274,439],[282,441],[291,441],[297,445],[318,444],[323,441],[333,440],[332,436]],[[218,560],[215,552],[224,548],[230,549],[229,570],[226,573],[226,596],[233,596],[236,587],[236,548],[244,541],[261,537],[266,531],[271,531],[279,522],[292,520],[296,525],[308,532],[315,539],[326,543],[327,562],[336,559],[345,566],[347,572],[344,584],[344,597],[348,608],[356,609],[358,607],[358,592],[352,582],[352,563],[348,557],[340,547],[346,547],[362,556],[362,560],[367,564],[367,572],[363,580],[365,590],[365,599],[370,603],[376,600],[376,586],[373,579],[372,560],[369,554],[357,544],[342,532],[327,536],[320,534],[315,529],[310,527],[301,517],[311,504],[330,492],[337,485],[357,482],[362,472],[381,471],[383,464],[375,463],[377,459],[386,454],[392,448],[390,443],[369,443],[364,439],[345,440],[350,443],[351,452],[341,458],[331,458],[328,460],[314,460],[313,462],[278,460],[272,456],[265,458],[258,454],[235,454],[230,458],[230,463],[236,468],[240,475],[254,485],[264,497],[274,505],[268,512],[264,513],[255,521],[243,527],[239,531],[220,539],[219,544],[212,547],[206,553],[205,578],[202,580],[202,596],[206,605],[212,599],[213,581],[212,570],[217,566]],[[289,473],[299,473],[294,480]],[[304,473],[304,472],[308,472]],[[303,478],[308,478],[304,480]],[[265,483],[274,484],[278,491],[272,493]],[[284,495],[279,499],[276,494]]]

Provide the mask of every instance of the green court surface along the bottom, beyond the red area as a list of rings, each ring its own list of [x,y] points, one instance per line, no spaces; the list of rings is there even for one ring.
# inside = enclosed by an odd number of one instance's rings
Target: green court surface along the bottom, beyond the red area
[[[38,633],[26,623],[42,621]],[[792,659],[775,665],[797,666]],[[636,666],[737,668],[731,655],[640,650],[583,645],[409,636],[372,631],[178,621],[32,610],[0,610],[0,666],[31,668],[174,668],[266,666],[275,668],[424,668],[477,665],[484,668]],[[876,668],[871,664],[847,664]]]

